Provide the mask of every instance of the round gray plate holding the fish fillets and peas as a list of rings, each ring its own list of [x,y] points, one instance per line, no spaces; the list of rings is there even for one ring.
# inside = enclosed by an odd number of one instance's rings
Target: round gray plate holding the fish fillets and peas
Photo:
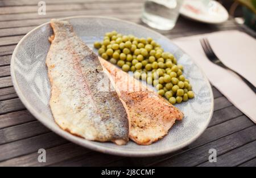
[[[152,37],[162,45],[164,50],[173,53],[177,61],[184,66],[184,75],[191,81],[195,98],[176,104],[176,107],[184,113],[183,121],[176,121],[176,124],[163,139],[149,146],[139,146],[132,141],[127,145],[117,146],[110,142],[87,141],[69,134],[55,124],[48,104],[50,85],[45,61],[50,46],[48,37],[52,34],[52,29],[49,23],[45,23],[27,33],[19,41],[11,58],[11,77],[15,90],[23,104],[42,124],[81,146],[123,156],[166,154],[189,145],[204,132],[213,113],[212,89],[199,67],[179,47],[159,33],[123,20],[95,16],[77,16],[65,19],[71,22],[77,35],[89,46],[92,46],[96,40],[102,40],[105,32],[114,29],[127,35]]]

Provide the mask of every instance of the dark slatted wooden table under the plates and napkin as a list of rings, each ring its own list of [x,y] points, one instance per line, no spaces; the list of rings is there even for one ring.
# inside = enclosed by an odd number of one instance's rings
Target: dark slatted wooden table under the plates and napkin
[[[142,24],[143,1],[47,0],[46,15],[38,15],[38,1],[0,1],[0,166],[256,166],[256,125],[216,88],[214,113],[205,132],[191,145],[171,154],[151,158],[125,158],[77,146],[33,117],[16,95],[10,77],[11,54],[31,29],[51,18],[102,15]],[[179,18],[174,39],[228,29],[243,30],[232,19],[209,25]],[[232,87],[232,86],[230,86]],[[46,163],[38,162],[38,149],[46,149]],[[217,163],[209,163],[209,149],[217,150]]]

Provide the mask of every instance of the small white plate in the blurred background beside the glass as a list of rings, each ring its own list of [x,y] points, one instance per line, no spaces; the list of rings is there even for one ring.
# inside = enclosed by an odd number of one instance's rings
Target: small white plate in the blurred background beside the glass
[[[184,0],[180,14],[199,22],[223,23],[229,18],[228,11],[217,1]]]

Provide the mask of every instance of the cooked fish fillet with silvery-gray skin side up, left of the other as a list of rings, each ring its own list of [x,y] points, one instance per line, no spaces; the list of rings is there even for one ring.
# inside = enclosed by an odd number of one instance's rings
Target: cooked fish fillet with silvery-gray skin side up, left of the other
[[[96,54],[73,32],[69,22],[51,20],[54,36],[46,58],[51,82],[49,105],[60,128],[93,141],[117,145],[129,139],[127,114]],[[110,87],[113,88],[112,84]]]

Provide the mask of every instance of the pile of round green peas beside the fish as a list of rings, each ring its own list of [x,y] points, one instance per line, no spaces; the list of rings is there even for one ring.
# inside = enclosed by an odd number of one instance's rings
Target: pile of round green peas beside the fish
[[[151,37],[138,38],[112,31],[105,34],[102,43],[96,41],[94,48],[105,60],[123,71],[133,71],[135,78],[152,84],[171,104],[194,98],[192,86],[183,75],[183,66]]]

